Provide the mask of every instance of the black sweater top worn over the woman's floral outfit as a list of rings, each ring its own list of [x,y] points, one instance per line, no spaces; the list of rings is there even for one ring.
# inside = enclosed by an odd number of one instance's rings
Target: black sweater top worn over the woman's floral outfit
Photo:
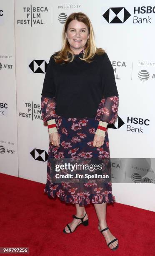
[[[106,53],[100,56],[95,54],[92,63],[80,60],[82,53],[65,64],[55,63],[52,56],[41,95],[55,97],[57,115],[94,118],[102,98],[118,96],[114,70]]]

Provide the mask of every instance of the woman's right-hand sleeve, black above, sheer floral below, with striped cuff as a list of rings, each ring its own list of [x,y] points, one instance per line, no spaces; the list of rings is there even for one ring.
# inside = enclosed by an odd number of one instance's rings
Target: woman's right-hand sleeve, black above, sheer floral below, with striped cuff
[[[118,91],[115,82],[115,75],[110,59],[105,53],[102,68],[102,100],[97,109],[96,119],[99,124],[95,134],[105,136],[108,123],[112,124],[117,119]]]

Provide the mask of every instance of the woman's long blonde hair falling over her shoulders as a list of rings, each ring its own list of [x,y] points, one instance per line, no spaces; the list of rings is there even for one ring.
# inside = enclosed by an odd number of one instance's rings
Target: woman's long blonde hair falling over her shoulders
[[[80,22],[83,22],[87,26],[88,32],[90,34],[85,44],[83,58],[79,58],[86,62],[92,62],[91,59],[93,59],[95,54],[104,54],[105,50],[103,50],[102,48],[97,48],[95,45],[94,31],[90,19],[87,17],[87,15],[85,15],[84,13],[71,13],[68,16],[62,31],[62,49],[60,51],[55,52],[53,55],[55,62],[61,64],[64,62],[71,62],[74,59],[74,52],[70,49],[70,44],[65,35],[68,25],[72,20],[78,20]],[[71,57],[69,57],[69,54],[71,54]]]

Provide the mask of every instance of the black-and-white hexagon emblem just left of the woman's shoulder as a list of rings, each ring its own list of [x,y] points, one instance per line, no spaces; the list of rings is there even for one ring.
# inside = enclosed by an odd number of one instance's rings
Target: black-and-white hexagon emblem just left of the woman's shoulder
[[[47,62],[45,60],[40,60],[40,59],[34,59],[28,67],[32,70],[33,73],[40,73],[44,74],[47,69]]]

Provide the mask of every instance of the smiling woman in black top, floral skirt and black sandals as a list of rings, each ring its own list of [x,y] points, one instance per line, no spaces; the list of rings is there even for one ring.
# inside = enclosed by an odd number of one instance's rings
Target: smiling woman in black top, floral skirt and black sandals
[[[111,182],[58,184],[51,179],[51,159],[110,159],[107,124],[116,120],[118,106],[114,70],[105,51],[96,48],[91,22],[84,13],[67,18],[62,43],[62,49],[50,57],[41,94],[42,117],[50,137],[44,192],[76,206],[64,233],[88,225],[85,205],[93,203],[98,229],[107,246],[115,250],[118,240],[106,223],[106,204],[115,202]]]

